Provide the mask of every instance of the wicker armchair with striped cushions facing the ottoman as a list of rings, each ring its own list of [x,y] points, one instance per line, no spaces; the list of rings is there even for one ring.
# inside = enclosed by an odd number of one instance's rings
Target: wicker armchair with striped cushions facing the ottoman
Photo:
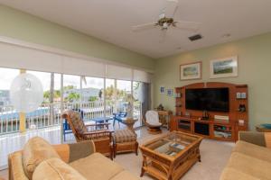
[[[75,136],[77,142],[93,140],[96,151],[113,159],[112,132],[108,130],[110,123],[98,123],[86,125],[81,119],[79,112],[68,110],[62,113]]]

